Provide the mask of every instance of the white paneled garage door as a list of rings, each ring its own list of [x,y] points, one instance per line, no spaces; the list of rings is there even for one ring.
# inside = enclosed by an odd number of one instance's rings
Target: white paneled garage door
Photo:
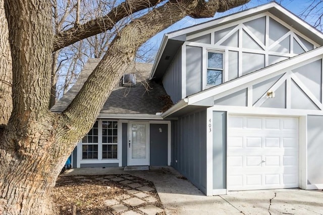
[[[228,190],[298,187],[298,119],[228,119]]]

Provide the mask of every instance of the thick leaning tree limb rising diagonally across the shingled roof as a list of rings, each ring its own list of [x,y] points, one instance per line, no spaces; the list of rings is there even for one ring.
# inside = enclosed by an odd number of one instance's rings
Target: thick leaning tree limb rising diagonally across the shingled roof
[[[79,93],[62,113],[62,121],[69,122],[60,126],[64,131],[62,138],[68,136],[82,137],[92,126],[104,102],[111,94],[121,75],[135,57],[136,50],[146,40],[166,29],[187,15],[201,14],[213,17],[221,0],[213,0],[201,5],[201,0],[171,0],[146,15],[134,19],[125,26],[112,41],[102,60],[93,70]],[[243,3],[248,2],[245,0]],[[218,2],[212,4],[211,2]],[[242,4],[242,1],[240,1]],[[208,13],[201,13],[201,7],[210,7]],[[237,4],[235,6],[240,6]],[[213,12],[213,14],[211,14]],[[197,17],[198,18],[198,17]],[[87,116],[85,118],[80,116]],[[66,129],[68,127],[69,129]],[[64,139],[63,139],[64,140]],[[62,141],[63,141],[62,140]]]

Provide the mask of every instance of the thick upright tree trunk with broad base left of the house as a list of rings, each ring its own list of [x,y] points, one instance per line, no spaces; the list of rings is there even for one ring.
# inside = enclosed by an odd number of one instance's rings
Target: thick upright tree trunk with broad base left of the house
[[[64,156],[53,146],[57,123],[48,111],[51,8],[47,1],[11,0],[5,10],[13,111],[0,139],[0,203],[5,214],[53,214],[50,191]]]

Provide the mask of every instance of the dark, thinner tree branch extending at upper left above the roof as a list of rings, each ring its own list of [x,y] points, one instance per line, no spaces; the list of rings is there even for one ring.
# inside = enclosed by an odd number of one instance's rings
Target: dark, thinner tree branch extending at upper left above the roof
[[[141,10],[151,8],[159,2],[160,0],[128,0],[113,8],[109,14],[103,17],[90,20],[83,25],[75,26],[57,34],[53,41],[53,51],[57,51],[87,37],[111,30],[123,18]]]

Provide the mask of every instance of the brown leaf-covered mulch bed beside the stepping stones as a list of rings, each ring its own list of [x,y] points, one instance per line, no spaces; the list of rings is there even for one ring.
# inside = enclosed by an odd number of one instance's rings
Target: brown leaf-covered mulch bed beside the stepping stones
[[[154,188],[148,194],[156,198],[157,201],[149,204],[164,208],[153,183],[142,178],[128,174],[60,176],[52,191],[52,198],[57,205],[59,214],[72,214],[73,205],[76,206],[77,214],[119,214],[110,206],[106,206],[104,200],[114,199],[122,194],[127,194],[127,190],[133,188],[127,186],[127,184],[120,183],[121,181],[112,181],[111,178],[115,177],[133,177],[131,181]],[[147,204],[141,204],[140,206],[144,205]],[[145,214],[136,207],[127,206],[129,209]],[[166,213],[162,212],[159,214]]]

